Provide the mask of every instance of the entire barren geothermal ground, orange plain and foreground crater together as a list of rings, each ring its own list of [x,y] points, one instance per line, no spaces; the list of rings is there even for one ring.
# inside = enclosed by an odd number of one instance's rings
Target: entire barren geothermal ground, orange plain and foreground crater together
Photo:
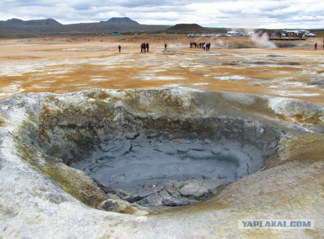
[[[322,237],[316,42],[0,40],[0,238]],[[240,229],[248,219],[311,227]]]

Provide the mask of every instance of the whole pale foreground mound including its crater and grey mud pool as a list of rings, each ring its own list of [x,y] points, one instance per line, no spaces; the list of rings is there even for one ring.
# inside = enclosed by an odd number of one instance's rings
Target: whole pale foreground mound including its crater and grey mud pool
[[[324,111],[169,88],[0,103],[0,238],[320,238]],[[238,229],[238,219],[314,229]]]

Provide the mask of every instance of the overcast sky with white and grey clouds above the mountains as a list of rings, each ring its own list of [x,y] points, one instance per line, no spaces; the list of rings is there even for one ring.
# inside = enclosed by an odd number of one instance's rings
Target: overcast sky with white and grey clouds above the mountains
[[[53,18],[62,24],[129,17],[140,24],[324,28],[323,0],[1,0],[0,20]]]

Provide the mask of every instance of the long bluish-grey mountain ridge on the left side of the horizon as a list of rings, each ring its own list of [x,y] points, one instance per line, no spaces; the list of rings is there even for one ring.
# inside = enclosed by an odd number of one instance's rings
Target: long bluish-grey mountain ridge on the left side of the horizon
[[[63,25],[54,19],[10,19],[0,21],[0,34],[55,34],[55,33],[102,33],[113,31],[164,31],[167,25],[142,25],[128,17],[111,18],[108,21]]]

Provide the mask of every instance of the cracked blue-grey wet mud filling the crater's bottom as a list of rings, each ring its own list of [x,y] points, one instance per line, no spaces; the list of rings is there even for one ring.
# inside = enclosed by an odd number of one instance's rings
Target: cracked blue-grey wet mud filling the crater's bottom
[[[130,203],[183,206],[206,199],[218,186],[263,166],[261,150],[251,144],[195,137],[166,140],[110,135],[90,158],[70,167],[86,172],[103,190]]]

